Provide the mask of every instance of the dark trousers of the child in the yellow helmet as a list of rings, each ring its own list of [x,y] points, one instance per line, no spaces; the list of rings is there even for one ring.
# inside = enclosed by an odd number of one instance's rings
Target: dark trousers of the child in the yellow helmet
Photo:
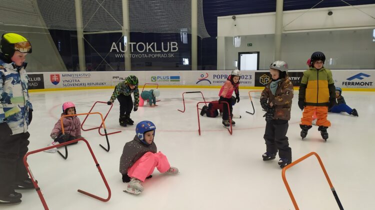
[[[28,178],[23,164],[30,134],[28,132],[10,135],[0,130],[0,195],[14,190],[14,182]]]

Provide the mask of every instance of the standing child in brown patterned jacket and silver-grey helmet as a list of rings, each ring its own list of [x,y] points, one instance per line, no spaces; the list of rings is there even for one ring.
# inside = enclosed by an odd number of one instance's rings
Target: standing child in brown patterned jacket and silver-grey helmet
[[[286,62],[276,60],[269,66],[272,76],[264,90],[261,92],[260,104],[266,111],[264,140],[266,152],[263,160],[272,160],[278,151],[281,168],[291,163],[291,148],[289,147],[286,132],[290,119],[291,100],[293,98],[293,84],[287,77],[288,65]]]

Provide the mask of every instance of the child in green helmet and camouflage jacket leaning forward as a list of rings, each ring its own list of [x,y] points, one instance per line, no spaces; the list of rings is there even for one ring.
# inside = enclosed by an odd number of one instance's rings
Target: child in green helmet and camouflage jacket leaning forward
[[[131,93],[134,94],[134,102],[131,99]],[[127,124],[132,125],[134,121],[130,118],[131,109],[134,105],[133,111],[136,111],[139,105],[138,78],[134,75],[129,75],[125,81],[119,82],[114,87],[112,96],[107,104],[111,105],[116,98],[120,103],[119,124],[124,127]]]

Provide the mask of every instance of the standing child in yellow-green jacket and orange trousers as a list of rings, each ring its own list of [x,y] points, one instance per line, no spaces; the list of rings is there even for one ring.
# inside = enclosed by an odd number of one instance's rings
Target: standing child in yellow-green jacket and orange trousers
[[[332,72],[323,67],[325,55],[323,52],[314,52],[310,58],[310,68],[303,72],[299,86],[298,106],[303,110],[301,123],[299,124],[302,139],[306,137],[307,130],[311,128],[312,115],[315,112],[321,137],[327,140],[327,128],[330,121],[327,120],[328,107],[335,104],[335,87]]]

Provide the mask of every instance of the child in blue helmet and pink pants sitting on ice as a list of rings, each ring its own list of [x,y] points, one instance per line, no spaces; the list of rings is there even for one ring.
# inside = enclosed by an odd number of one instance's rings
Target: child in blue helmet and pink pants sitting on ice
[[[135,127],[134,139],[125,143],[120,157],[122,181],[128,182],[124,192],[138,195],[143,190],[142,182],[151,177],[157,168],[161,173],[178,173],[178,169],[169,165],[168,159],[157,152],[153,142],[155,125],[150,121],[141,121]]]

